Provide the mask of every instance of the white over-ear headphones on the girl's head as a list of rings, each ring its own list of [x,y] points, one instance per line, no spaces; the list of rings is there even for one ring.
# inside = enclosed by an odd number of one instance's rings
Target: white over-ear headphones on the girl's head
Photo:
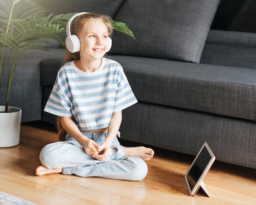
[[[69,50],[71,53],[80,51],[80,47],[81,47],[79,38],[76,35],[71,35],[71,32],[70,32],[71,22],[77,16],[83,15],[85,13],[88,13],[88,12],[77,13],[77,14],[73,15],[70,18],[70,20],[68,20],[68,22],[67,22],[67,26],[66,26],[67,38],[66,38],[65,42],[66,42],[67,50]],[[112,46],[112,39],[110,37],[108,37],[108,49],[107,49],[106,53],[108,53],[108,51],[110,51],[111,46]]]

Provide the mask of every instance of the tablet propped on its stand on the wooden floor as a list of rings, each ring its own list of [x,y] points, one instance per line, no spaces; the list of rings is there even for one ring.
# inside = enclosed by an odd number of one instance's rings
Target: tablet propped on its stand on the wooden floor
[[[214,160],[215,156],[209,148],[209,145],[205,142],[184,176],[190,196],[194,196],[200,187],[209,196],[203,179],[211,168]]]

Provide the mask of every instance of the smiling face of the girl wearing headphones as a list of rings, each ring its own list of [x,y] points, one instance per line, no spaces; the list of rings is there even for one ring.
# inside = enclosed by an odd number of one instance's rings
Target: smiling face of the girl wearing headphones
[[[108,28],[102,20],[88,20],[79,40],[81,60],[100,60],[108,49]]]

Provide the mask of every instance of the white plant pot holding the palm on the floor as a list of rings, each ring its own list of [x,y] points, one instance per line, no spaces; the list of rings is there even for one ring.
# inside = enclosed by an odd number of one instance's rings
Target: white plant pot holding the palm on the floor
[[[0,106],[0,148],[13,147],[20,143],[21,109]]]

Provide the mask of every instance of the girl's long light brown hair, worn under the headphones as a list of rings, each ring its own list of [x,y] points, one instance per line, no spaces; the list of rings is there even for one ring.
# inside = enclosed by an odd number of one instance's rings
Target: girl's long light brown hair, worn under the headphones
[[[90,20],[90,19],[95,19],[95,20],[102,20],[103,22],[105,22],[107,28],[108,28],[108,36],[111,36],[111,34],[113,33],[113,24],[112,24],[112,18],[108,15],[104,15],[104,14],[95,14],[95,13],[85,13],[82,15],[77,16],[71,26],[70,26],[70,31],[72,35],[79,35],[79,33],[81,33],[81,31],[83,30],[83,26],[85,24],[86,21]],[[65,59],[64,59],[64,64],[70,61],[74,61],[74,60],[79,60],[80,59],[80,54],[79,52],[76,53],[71,53],[70,51],[68,51],[66,49],[66,55],[65,55]],[[63,126],[61,125],[61,118],[58,116],[57,117],[57,128],[58,128],[58,139],[59,141],[65,141],[65,136],[66,136],[66,131],[63,128]]]

